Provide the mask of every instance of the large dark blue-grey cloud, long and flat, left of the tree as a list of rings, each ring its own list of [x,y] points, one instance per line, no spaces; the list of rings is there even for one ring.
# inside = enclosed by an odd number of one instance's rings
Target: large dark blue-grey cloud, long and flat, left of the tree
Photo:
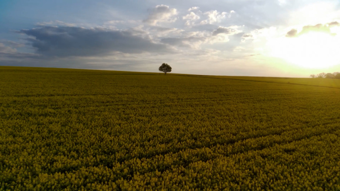
[[[20,30],[26,34],[37,53],[45,56],[100,56],[112,52],[171,52],[166,45],[156,44],[129,31],[103,28],[45,26]],[[32,38],[33,37],[33,38]]]

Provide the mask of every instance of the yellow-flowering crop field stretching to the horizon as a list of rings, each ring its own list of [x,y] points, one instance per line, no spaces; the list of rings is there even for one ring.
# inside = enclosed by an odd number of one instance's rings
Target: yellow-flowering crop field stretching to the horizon
[[[0,191],[340,191],[340,80],[0,67]]]

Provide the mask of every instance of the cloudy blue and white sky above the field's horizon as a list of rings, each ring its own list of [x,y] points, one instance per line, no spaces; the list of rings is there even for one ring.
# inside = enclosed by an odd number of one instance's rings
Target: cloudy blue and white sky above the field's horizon
[[[0,1],[0,65],[308,77],[339,53],[339,0]]]

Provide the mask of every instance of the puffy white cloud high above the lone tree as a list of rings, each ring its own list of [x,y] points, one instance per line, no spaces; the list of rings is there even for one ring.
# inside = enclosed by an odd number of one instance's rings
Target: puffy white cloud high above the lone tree
[[[177,9],[170,8],[168,5],[157,5],[155,8],[150,10],[150,14],[145,23],[150,25],[157,25],[160,22],[174,22],[176,21],[175,15],[177,15]]]

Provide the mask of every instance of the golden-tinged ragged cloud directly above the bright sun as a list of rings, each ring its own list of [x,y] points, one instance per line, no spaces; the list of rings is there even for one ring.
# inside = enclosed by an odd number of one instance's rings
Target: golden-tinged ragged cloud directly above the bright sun
[[[322,33],[327,33],[330,35],[336,35],[331,32],[331,27],[334,26],[339,26],[338,22],[331,22],[328,24],[317,24],[317,25],[307,25],[302,28],[300,32],[297,31],[297,29],[292,29],[287,32],[286,37],[298,37],[303,34],[307,34],[309,32],[322,32]]]

